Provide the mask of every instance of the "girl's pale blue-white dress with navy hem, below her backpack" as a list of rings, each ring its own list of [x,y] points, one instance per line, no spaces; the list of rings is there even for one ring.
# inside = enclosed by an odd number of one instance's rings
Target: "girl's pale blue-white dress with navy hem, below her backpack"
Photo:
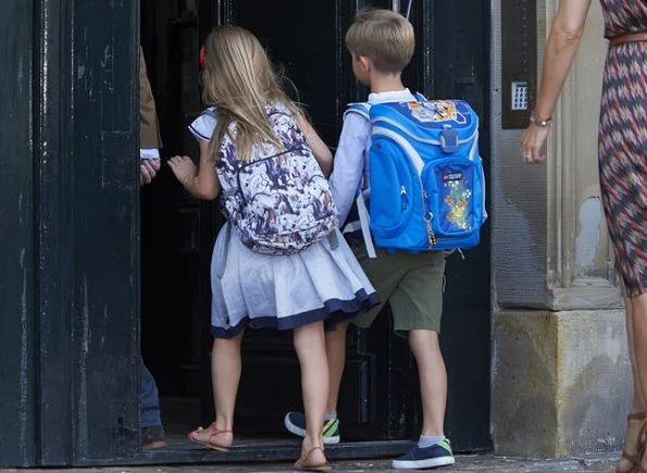
[[[213,110],[189,126],[203,141],[214,129]],[[219,338],[247,326],[289,329],[316,321],[331,329],[378,303],[338,229],[297,253],[276,256],[252,251],[227,223],[213,249],[211,291],[211,332]]]

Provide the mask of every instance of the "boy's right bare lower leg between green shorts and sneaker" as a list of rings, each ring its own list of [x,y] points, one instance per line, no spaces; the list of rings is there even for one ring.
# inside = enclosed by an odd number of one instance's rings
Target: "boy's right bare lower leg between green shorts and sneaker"
[[[440,353],[438,333],[411,331],[409,332],[409,346],[415,358],[420,377],[423,413],[422,435],[444,435],[447,371]]]

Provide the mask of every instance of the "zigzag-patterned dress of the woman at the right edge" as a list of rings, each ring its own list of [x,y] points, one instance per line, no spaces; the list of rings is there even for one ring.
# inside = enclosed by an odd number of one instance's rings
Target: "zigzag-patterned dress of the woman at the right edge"
[[[601,0],[605,36],[647,32],[647,0]],[[627,297],[647,291],[647,42],[611,47],[602,85],[599,170]]]

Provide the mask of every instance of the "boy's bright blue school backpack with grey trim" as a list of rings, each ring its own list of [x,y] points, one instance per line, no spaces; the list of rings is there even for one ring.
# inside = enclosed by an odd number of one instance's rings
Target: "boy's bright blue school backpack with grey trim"
[[[372,123],[370,212],[358,197],[370,256],[476,246],[485,211],[478,116],[462,100],[352,103]]]

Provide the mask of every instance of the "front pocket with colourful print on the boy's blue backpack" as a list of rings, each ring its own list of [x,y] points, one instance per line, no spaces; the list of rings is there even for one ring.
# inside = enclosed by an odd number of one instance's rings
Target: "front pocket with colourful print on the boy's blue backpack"
[[[483,172],[480,161],[448,158],[431,162],[422,173],[427,210],[437,236],[460,237],[478,231],[482,223]]]

